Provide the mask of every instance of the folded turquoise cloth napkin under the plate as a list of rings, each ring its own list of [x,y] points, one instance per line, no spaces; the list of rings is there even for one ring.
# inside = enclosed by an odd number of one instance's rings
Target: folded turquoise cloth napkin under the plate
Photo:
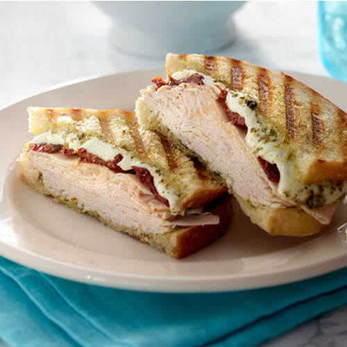
[[[251,347],[347,303],[347,268],[278,287],[154,294],[62,280],[0,257],[11,346]]]

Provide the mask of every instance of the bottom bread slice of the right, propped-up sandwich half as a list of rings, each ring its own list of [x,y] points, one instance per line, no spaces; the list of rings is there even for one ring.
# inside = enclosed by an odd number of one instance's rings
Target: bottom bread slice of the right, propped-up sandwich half
[[[236,197],[251,221],[270,235],[308,236],[327,227],[298,208],[270,208],[264,205],[255,207],[243,198]]]

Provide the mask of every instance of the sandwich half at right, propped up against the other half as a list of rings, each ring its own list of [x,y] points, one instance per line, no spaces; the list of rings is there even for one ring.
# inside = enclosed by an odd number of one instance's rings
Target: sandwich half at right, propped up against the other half
[[[286,74],[169,53],[139,122],[194,153],[273,235],[319,232],[347,192],[347,115]]]

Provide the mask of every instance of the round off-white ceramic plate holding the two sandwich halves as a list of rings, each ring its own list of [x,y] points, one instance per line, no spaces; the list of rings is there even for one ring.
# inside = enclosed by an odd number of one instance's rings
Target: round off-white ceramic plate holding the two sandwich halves
[[[0,255],[70,280],[167,292],[266,287],[347,266],[347,245],[336,232],[336,226],[347,221],[344,205],[328,232],[299,239],[266,235],[235,203],[234,222],[226,235],[186,259],[173,260],[92,217],[52,203],[10,169],[23,144],[31,139],[28,105],[133,110],[139,90],[160,74],[164,74],[162,69],[151,69],[85,79],[0,111]],[[347,109],[345,83],[291,75]]]

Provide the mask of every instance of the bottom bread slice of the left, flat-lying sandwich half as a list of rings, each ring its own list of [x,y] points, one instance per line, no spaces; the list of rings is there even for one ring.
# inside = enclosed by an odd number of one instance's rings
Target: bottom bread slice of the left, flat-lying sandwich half
[[[218,225],[175,228],[172,229],[171,232],[164,234],[144,234],[135,228],[128,228],[103,219],[95,211],[82,210],[79,207],[81,204],[78,203],[76,199],[71,201],[63,196],[56,195],[55,192],[51,192],[41,180],[34,180],[30,178],[30,175],[26,176],[25,167],[22,167],[21,170],[20,176],[25,183],[40,194],[53,196],[55,203],[66,205],[68,208],[77,212],[90,214],[101,221],[105,226],[124,232],[135,239],[139,239],[139,241],[145,244],[150,244],[153,248],[163,251],[176,259],[187,257],[214,242],[214,240],[221,237],[221,235],[228,230],[228,226],[232,219],[232,196],[229,195],[221,204],[216,205],[211,210],[212,214],[217,214],[220,218],[220,223]]]

